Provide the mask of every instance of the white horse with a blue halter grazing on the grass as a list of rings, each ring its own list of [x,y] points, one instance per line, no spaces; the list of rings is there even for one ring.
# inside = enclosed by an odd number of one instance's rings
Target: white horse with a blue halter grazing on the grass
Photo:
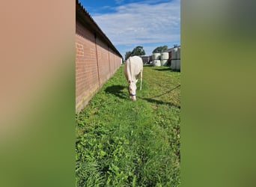
[[[135,76],[140,76],[142,84],[142,71],[143,62],[139,56],[129,57],[124,64],[124,75],[128,82],[129,96],[133,101],[136,100],[136,82],[138,82],[138,79],[135,79]]]

